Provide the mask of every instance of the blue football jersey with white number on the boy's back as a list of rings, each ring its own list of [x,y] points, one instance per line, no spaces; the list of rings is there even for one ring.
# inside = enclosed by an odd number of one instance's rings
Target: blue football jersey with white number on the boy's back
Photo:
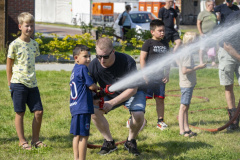
[[[70,78],[70,112],[72,116],[94,113],[92,91],[89,89],[93,83],[87,66],[75,64]]]

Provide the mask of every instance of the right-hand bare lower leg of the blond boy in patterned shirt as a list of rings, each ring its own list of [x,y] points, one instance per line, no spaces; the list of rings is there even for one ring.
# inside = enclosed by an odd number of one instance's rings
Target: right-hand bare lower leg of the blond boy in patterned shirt
[[[32,144],[39,141],[40,128],[42,124],[43,111],[34,111],[32,122]],[[43,144],[40,144],[42,146]]]

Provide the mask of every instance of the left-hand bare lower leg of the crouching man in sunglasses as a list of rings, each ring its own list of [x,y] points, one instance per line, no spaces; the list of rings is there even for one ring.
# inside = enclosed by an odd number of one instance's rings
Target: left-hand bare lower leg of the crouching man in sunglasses
[[[107,119],[104,117],[104,112],[94,108],[94,114],[92,115],[92,120],[99,132],[102,134],[104,139],[107,141],[112,141],[112,135],[109,130],[109,124]]]

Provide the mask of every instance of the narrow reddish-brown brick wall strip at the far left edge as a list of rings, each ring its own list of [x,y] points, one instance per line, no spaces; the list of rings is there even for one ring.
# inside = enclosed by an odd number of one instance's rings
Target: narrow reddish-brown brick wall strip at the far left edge
[[[0,0],[0,48],[5,43],[5,0]]]

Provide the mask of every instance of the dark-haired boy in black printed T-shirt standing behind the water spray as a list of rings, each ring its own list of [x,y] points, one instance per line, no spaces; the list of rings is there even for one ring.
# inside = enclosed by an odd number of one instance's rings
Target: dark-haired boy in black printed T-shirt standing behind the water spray
[[[150,31],[152,38],[146,40],[142,46],[140,53],[140,65],[143,69],[147,65],[151,64],[154,60],[159,60],[159,58],[166,55],[169,50],[169,45],[164,39],[164,23],[155,19],[150,23]],[[165,70],[165,73],[164,73]],[[159,73],[154,77],[144,76],[147,84],[146,98],[152,99],[153,95],[156,100],[156,110],[158,115],[157,127],[161,130],[167,128],[167,125],[163,121],[164,117],[164,98],[165,98],[165,84],[169,80],[170,67],[164,67]]]

